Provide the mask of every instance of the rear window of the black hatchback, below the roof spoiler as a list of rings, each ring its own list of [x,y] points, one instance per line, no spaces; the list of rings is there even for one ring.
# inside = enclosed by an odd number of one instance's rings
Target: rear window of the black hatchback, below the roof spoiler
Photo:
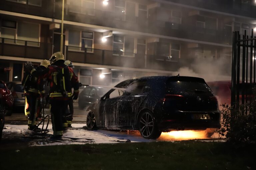
[[[167,94],[183,94],[183,93],[196,93],[196,92],[210,92],[211,89],[204,83],[198,81],[173,81],[167,80],[166,82]]]

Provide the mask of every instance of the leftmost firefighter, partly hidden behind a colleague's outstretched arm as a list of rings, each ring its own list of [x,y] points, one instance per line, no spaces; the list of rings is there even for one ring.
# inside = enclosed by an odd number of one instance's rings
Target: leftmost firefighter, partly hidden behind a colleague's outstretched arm
[[[48,60],[42,60],[40,66],[35,70],[43,72],[48,65],[50,65]],[[36,118],[39,117],[40,114],[40,94],[44,94],[44,81],[38,84],[38,77],[33,76],[30,72],[26,72],[22,79],[22,85],[24,87],[26,101],[25,115],[29,118],[28,129],[36,131],[38,130],[36,128]]]

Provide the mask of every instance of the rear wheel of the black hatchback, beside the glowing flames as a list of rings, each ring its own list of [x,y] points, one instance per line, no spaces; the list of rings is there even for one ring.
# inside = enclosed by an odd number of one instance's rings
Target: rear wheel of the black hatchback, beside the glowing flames
[[[138,118],[139,131],[142,137],[146,139],[157,139],[161,135],[154,115],[151,112],[143,112]]]

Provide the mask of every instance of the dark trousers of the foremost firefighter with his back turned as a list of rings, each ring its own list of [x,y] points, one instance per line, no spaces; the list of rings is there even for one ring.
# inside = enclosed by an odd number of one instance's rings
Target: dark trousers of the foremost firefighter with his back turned
[[[63,123],[65,123],[65,112],[68,107],[68,101],[50,99],[50,111],[52,120],[53,136],[63,134]]]

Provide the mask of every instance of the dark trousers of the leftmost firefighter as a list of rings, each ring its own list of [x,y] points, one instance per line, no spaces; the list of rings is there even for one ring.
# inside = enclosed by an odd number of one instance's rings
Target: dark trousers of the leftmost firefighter
[[[27,92],[26,93],[27,103],[29,105],[29,121],[28,126],[36,125],[36,113],[40,105],[40,95],[38,93]]]

